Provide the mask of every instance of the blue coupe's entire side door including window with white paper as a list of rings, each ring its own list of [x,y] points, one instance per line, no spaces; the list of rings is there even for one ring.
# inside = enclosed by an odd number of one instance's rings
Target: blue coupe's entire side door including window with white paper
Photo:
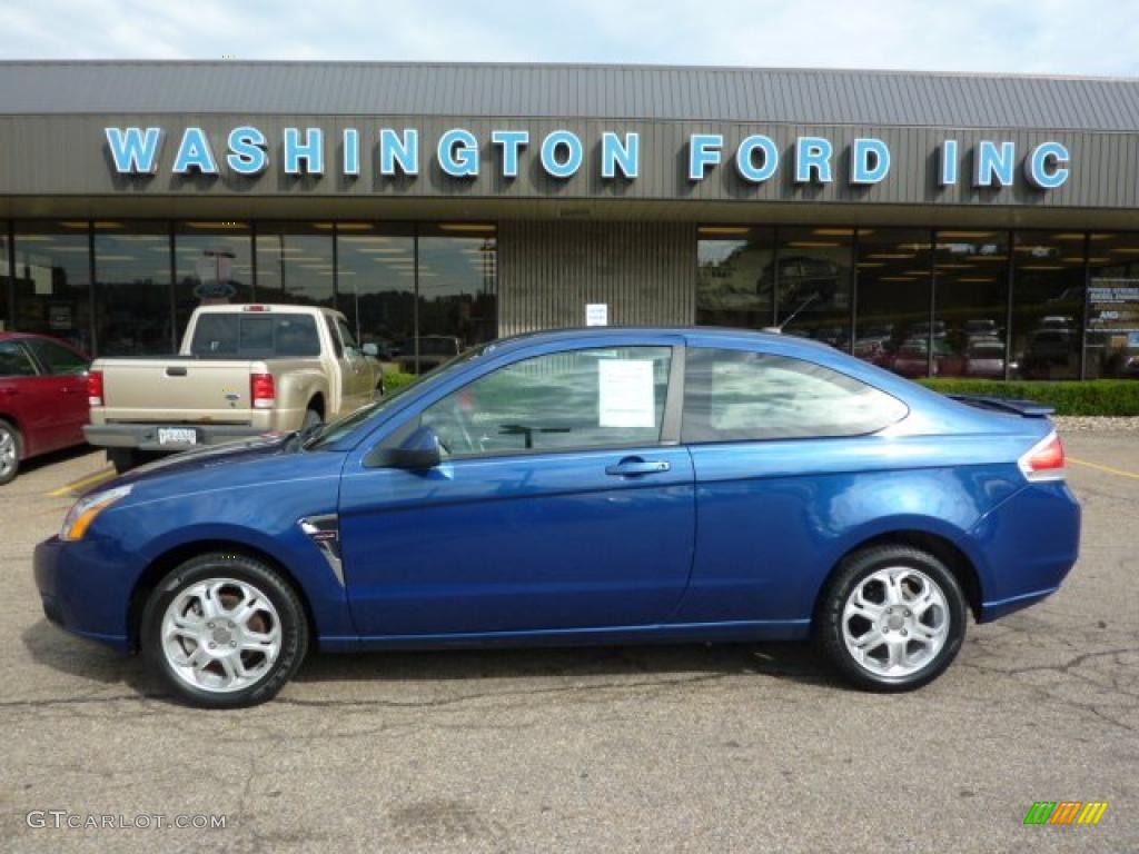
[[[417,403],[427,471],[347,463],[341,533],[366,637],[644,626],[691,568],[691,460],[671,339],[544,353]],[[355,466],[355,467],[354,467]]]

